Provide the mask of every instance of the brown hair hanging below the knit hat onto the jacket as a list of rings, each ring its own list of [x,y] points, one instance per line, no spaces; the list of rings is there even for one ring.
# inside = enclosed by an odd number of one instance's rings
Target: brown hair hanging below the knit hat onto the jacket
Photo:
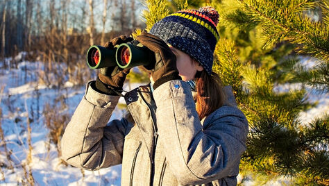
[[[220,108],[226,100],[221,78],[212,72],[209,75],[205,70],[196,73],[196,112],[200,120]]]

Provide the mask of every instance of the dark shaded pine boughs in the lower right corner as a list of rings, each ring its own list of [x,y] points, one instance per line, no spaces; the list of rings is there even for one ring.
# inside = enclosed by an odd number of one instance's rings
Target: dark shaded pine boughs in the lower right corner
[[[329,117],[317,119],[311,128],[301,131],[285,128],[286,124],[278,121],[262,115],[251,124],[244,161],[263,171],[273,166],[274,172],[282,176],[302,176],[317,183],[328,181]],[[265,160],[273,162],[267,164]]]

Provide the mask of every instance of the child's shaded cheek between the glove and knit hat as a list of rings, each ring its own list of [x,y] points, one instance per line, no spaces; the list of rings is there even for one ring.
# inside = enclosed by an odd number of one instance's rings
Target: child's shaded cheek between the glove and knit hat
[[[176,66],[179,71],[179,76],[183,81],[189,81],[194,79],[196,71],[202,71],[203,67],[199,62],[195,62],[183,51],[176,49],[169,45],[169,48],[176,55]]]

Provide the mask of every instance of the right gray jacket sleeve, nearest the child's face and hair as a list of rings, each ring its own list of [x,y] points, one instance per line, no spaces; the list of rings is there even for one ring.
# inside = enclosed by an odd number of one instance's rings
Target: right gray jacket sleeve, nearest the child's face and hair
[[[248,133],[248,122],[239,109],[219,108],[205,118],[207,126],[203,128],[187,83],[169,81],[153,96],[159,142],[180,184],[198,185],[237,176]]]

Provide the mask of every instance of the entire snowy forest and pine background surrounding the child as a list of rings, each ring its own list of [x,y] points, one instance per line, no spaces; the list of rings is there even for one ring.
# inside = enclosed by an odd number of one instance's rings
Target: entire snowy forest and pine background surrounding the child
[[[0,184],[119,185],[119,166],[60,160],[60,137],[96,78],[85,53],[201,6],[219,11],[213,71],[250,125],[239,185],[328,185],[327,0],[1,0]],[[135,68],[126,81],[131,90],[148,78]]]

